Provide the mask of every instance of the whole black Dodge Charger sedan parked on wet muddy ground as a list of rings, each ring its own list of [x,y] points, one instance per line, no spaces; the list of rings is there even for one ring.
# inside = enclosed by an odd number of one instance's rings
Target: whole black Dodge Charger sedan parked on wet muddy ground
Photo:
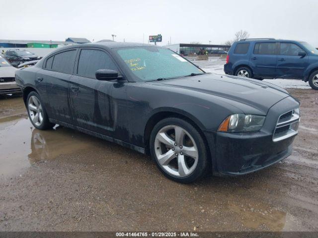
[[[57,123],[151,154],[184,183],[283,160],[300,119],[299,102],[280,87],[206,73],[145,44],[64,47],[15,79],[36,128]]]

